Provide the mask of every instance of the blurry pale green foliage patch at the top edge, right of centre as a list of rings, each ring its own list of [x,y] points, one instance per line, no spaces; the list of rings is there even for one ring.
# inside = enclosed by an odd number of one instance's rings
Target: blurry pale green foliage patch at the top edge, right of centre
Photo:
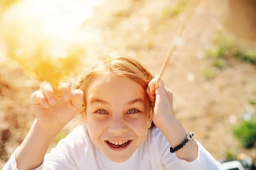
[[[186,7],[186,0],[179,0],[177,5],[174,6],[173,8],[165,8],[162,12],[162,16],[164,18],[168,18],[168,17],[175,17],[177,16],[180,12],[183,12],[185,7]]]

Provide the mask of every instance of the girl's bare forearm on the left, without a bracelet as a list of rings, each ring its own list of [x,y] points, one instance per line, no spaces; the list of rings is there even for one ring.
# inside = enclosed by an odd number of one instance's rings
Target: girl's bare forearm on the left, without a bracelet
[[[30,170],[38,167],[44,160],[49,145],[61,129],[44,129],[37,119],[16,153],[17,168]]]

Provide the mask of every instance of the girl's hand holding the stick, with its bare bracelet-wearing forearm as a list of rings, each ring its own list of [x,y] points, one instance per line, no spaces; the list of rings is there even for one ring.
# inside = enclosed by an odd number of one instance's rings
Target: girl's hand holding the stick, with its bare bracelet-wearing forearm
[[[172,105],[172,91],[165,87],[163,79],[160,80],[159,87],[155,89],[158,76],[152,79],[146,90],[151,102],[154,102],[152,120],[159,130],[166,136],[171,146],[177,146],[186,139],[186,130],[175,118]],[[198,145],[195,140],[188,142],[186,147],[175,152],[178,158],[186,161],[194,161],[198,158]]]

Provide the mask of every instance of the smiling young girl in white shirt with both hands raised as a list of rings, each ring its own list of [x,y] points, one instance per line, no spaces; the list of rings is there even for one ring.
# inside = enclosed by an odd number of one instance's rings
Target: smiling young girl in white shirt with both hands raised
[[[221,170],[175,118],[172,91],[162,79],[155,89],[157,79],[118,57],[94,66],[76,90],[63,85],[61,97],[42,82],[31,96],[35,122],[3,170]],[[79,111],[85,125],[45,155]]]

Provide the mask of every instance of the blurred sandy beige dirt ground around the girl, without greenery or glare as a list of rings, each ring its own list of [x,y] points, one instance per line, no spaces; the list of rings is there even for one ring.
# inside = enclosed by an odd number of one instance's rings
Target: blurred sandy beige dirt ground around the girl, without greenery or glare
[[[241,119],[244,111],[253,109],[248,99],[256,91],[256,67],[235,60],[232,66],[222,69],[214,78],[205,79],[204,70],[212,67],[205,57],[205,49],[212,45],[216,29],[225,30],[221,16],[227,13],[223,7],[225,4],[219,4],[222,8],[217,5],[209,8],[207,2],[202,1],[190,16],[163,79],[174,93],[177,119],[186,130],[195,134],[215,159],[225,159],[227,150],[233,150],[246,153],[255,160],[256,148],[243,149],[233,137],[231,127]],[[84,28],[90,26],[100,32],[100,38],[88,43],[87,65],[96,61],[95,49],[108,44],[138,59],[158,74],[181,24],[179,18],[182,15],[172,17],[166,12],[177,3],[177,0],[111,0],[97,7],[94,16],[84,22]],[[193,3],[187,5],[193,6]],[[219,14],[212,12],[218,9]],[[240,37],[239,43],[253,48],[255,41],[241,40]],[[0,159],[3,161],[0,161],[0,167],[22,142],[34,119],[29,96],[38,85],[37,80],[26,75],[13,62],[1,63]],[[70,131],[80,123],[79,118],[74,119],[65,129]]]

